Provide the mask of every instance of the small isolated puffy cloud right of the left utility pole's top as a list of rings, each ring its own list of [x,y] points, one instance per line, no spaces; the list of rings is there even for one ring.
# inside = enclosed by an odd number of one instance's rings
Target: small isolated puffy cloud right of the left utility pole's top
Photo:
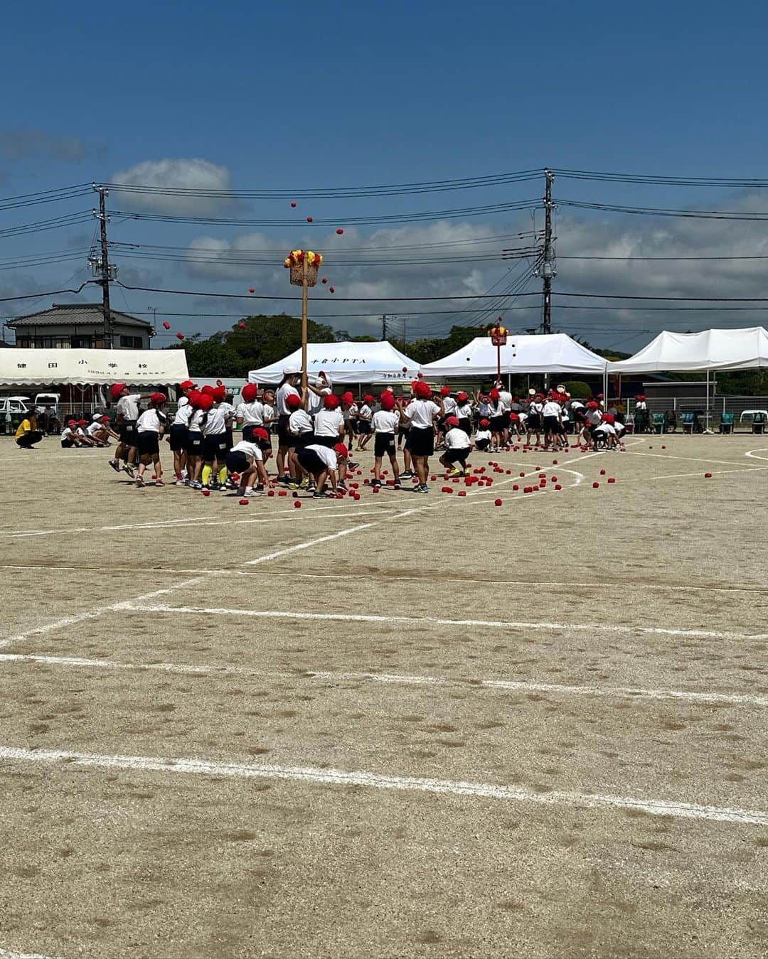
[[[113,183],[129,186],[175,187],[183,190],[231,190],[232,175],[226,167],[209,160],[165,159],[145,160],[128,170],[120,170],[112,176]],[[133,193],[112,189],[113,201],[119,198],[121,205],[129,210],[151,213],[189,214],[205,216],[223,214],[236,207],[231,198],[189,197],[159,193]]]

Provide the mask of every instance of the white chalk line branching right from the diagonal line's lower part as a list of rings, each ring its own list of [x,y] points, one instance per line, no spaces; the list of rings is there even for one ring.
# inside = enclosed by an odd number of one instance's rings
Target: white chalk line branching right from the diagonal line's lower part
[[[335,535],[343,535],[337,533]],[[324,539],[325,537],[323,537]],[[119,604],[131,613],[186,613],[195,616],[248,616],[264,620],[331,620],[335,622],[398,622],[408,626],[483,626],[490,629],[574,630],[600,633],[646,633],[654,636],[687,636],[708,640],[768,640],[768,633],[734,633],[707,629],[667,629],[661,626],[596,622],[527,622],[522,620],[444,620],[433,616],[377,616],[367,613],[307,613],[295,610],[228,609],[221,606],[145,605],[128,599]]]

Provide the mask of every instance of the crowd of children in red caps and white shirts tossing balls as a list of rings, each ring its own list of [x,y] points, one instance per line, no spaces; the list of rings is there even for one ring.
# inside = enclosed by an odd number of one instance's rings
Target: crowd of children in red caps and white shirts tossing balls
[[[131,393],[125,384],[115,384],[111,397],[118,432],[107,416],[96,414],[91,423],[70,421],[61,445],[102,446],[116,439],[108,461],[112,469],[125,470],[137,486],[145,485],[150,471],[154,484],[162,486],[161,449],[167,442],[175,485],[208,495],[237,491],[246,498],[267,490],[268,461],[274,456],[277,483],[324,498],[347,489],[348,471],[358,465],[351,459],[353,450],[363,452],[371,441],[374,489],[391,471],[395,489],[408,481],[409,488],[426,493],[435,451],[448,475],[459,477],[473,449],[498,452],[519,441],[555,451],[569,446],[571,430],[582,448],[619,449],[624,432],[617,416],[603,409],[602,396],[582,403],[572,400],[564,386],[547,393],[531,389],[521,401],[500,383],[487,395],[471,398],[463,391],[454,395],[449,386],[434,391],[418,379],[407,395],[387,386],[378,396],[366,393],[356,400],[350,391],[335,393],[323,374],[302,387],[300,371],[286,367],[276,390],[247,384],[237,406],[221,384],[198,388],[187,380],[179,389],[171,415],[164,393]],[[237,442],[236,429],[242,431]]]

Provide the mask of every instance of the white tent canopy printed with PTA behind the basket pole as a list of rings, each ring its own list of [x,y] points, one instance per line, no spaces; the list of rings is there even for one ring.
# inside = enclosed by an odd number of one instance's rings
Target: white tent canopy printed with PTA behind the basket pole
[[[251,383],[279,383],[286,366],[301,368],[301,348],[290,356],[248,373]],[[320,371],[332,383],[401,383],[413,380],[419,364],[396,350],[387,340],[375,343],[308,343],[307,372],[310,377]]]

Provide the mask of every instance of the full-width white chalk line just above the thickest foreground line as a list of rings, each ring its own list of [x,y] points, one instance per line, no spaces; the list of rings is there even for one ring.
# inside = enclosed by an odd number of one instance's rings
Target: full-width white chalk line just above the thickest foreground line
[[[439,676],[404,675],[380,672],[334,672],[307,669],[302,672],[278,672],[245,667],[192,666],[187,663],[121,663],[117,660],[82,659],[76,656],[43,656],[0,653],[0,663],[35,663],[42,666],[112,669],[135,672],[170,672],[190,676],[252,676],[257,679],[314,680],[332,683],[384,683],[390,686],[449,687],[464,690],[500,690],[502,692],[553,692],[566,696],[601,696],[607,699],[682,700],[691,703],[724,703],[729,706],[768,707],[768,696],[730,692],[693,692],[689,690],[646,690],[642,687],[564,686],[558,683],[530,683],[506,679],[443,679]]]

